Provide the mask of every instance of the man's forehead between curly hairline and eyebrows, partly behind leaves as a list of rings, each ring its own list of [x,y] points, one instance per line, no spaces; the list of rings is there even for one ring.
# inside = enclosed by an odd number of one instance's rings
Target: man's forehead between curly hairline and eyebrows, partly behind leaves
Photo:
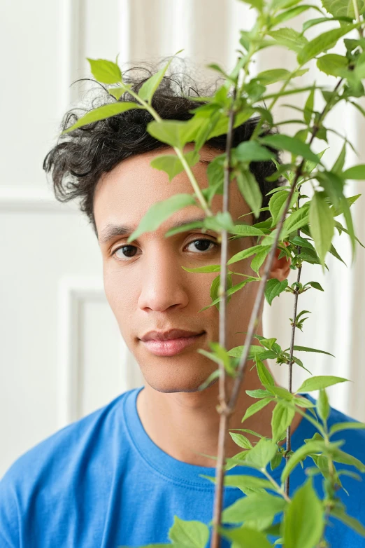
[[[193,144],[185,146],[185,152],[194,148]],[[192,167],[192,172],[201,189],[208,187],[208,176],[206,170],[208,163],[215,156],[222,153],[208,146],[203,146],[199,151],[201,161]],[[176,155],[171,147],[164,147],[155,151],[131,156],[122,160],[113,170],[104,173],[96,185],[94,192],[94,218],[98,233],[108,224],[136,225],[148,211],[150,206],[156,202],[166,200],[178,193],[194,193],[189,178],[185,171],[179,173],[169,182],[169,176],[162,170],[157,170],[150,165],[153,158],[162,154]],[[233,183],[233,181],[232,181]],[[237,218],[239,215],[249,212],[248,206],[231,183],[231,192],[239,196],[232,197],[231,215]],[[239,203],[237,203],[237,198]],[[235,212],[237,209],[237,215]],[[213,198],[211,209],[213,212],[222,210],[222,195]],[[199,205],[190,205],[171,215],[166,227],[173,221],[182,221],[185,218],[204,214]],[[161,225],[163,226],[163,225]]]

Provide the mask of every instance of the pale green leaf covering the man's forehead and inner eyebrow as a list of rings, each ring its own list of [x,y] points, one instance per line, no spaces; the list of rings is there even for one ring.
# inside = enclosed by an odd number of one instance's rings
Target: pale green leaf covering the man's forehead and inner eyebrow
[[[173,196],[162,200],[162,202],[152,204],[139,222],[138,228],[129,236],[127,243],[133,242],[145,232],[157,230],[159,225],[169,219],[173,213],[187,207],[187,205],[196,205],[190,194],[173,194]]]

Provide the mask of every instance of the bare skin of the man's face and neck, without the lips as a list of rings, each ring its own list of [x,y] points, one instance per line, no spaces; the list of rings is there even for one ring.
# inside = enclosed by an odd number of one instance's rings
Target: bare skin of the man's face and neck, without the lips
[[[187,144],[185,151],[192,148],[192,144]],[[209,341],[219,340],[217,308],[210,306],[198,313],[211,302],[210,285],[217,273],[190,273],[182,266],[196,268],[220,263],[218,234],[214,231],[203,233],[201,228],[194,228],[166,238],[164,234],[173,223],[188,223],[204,216],[199,205],[189,205],[172,214],[156,231],[144,233],[129,244],[129,233],[102,240],[108,225],[127,225],[134,230],[152,204],[176,193],[194,192],[185,172],[169,182],[165,172],[150,166],[152,158],[162,153],[175,154],[173,149],[166,147],[127,158],[98,181],[94,193],[94,218],[103,257],[104,289],[120,333],[145,379],[145,388],[138,394],[137,411],[148,436],[173,458],[192,465],[215,467],[215,460],[205,455],[217,455],[217,379],[205,390],[199,391],[198,388],[217,369],[217,364],[197,350],[203,348],[210,352]],[[201,149],[203,161],[192,167],[201,189],[208,186],[207,163],[219,153],[206,145]],[[236,180],[231,181],[229,193],[232,219],[237,223],[255,222],[251,215],[242,217],[250,212],[250,207],[245,203]],[[213,214],[222,211],[222,195],[213,198],[210,209]],[[204,241],[196,242],[198,239]],[[211,243],[206,242],[207,239]],[[228,255],[231,257],[252,245],[254,242],[250,238],[230,240]],[[117,252],[113,254],[115,249]],[[289,274],[289,262],[284,257],[278,259],[279,254],[277,249],[269,278],[285,280]],[[250,268],[251,260],[238,261],[229,268],[236,273],[256,275]],[[234,285],[244,279],[232,275]],[[243,345],[257,289],[258,282],[251,282],[232,295],[227,305],[227,349]],[[262,309],[259,318],[256,333],[262,335]],[[147,331],[172,328],[204,330],[206,333],[194,345],[173,356],[156,356],[140,340]],[[245,390],[263,388],[256,368],[252,366],[253,362],[248,362],[229,427],[245,427],[271,437],[275,402],[241,423],[245,410],[257,401]],[[228,378],[229,393],[232,384],[233,380]],[[301,419],[302,416],[296,413],[292,432]],[[257,442],[258,438],[252,434],[247,434],[247,437],[252,443]],[[241,448],[227,436],[226,456],[231,457],[239,451]]]

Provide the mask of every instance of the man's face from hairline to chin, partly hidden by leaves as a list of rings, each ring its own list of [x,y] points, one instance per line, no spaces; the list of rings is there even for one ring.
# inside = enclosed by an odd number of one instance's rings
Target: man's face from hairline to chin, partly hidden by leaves
[[[188,144],[185,151],[192,148],[192,144]],[[217,369],[215,362],[197,350],[203,348],[210,352],[209,341],[219,340],[217,308],[210,306],[198,313],[210,304],[210,285],[219,273],[191,273],[182,267],[219,264],[221,245],[217,243],[218,234],[214,231],[203,233],[200,228],[194,228],[166,238],[164,233],[174,223],[188,223],[204,216],[201,207],[189,205],[172,214],[156,231],[144,233],[130,244],[127,244],[129,233],[101,241],[108,225],[127,225],[134,231],[152,204],[177,193],[194,193],[185,172],[169,182],[165,172],[150,166],[152,158],[162,153],[175,152],[167,147],[143,153],[123,160],[112,171],[103,174],[94,195],[94,217],[103,256],[106,297],[120,333],[141,367],[145,382],[160,392],[193,392]],[[203,160],[212,160],[218,154],[207,146],[203,146],[200,153]],[[201,189],[208,186],[206,168],[206,163],[192,167]],[[213,198],[210,209],[213,214],[222,211],[221,195]],[[230,184],[229,212],[234,221],[252,222],[250,215],[238,219],[250,212],[250,208],[236,181]],[[228,255],[230,257],[251,245],[249,238],[231,240]],[[234,272],[255,275],[250,261],[239,261],[229,268]],[[243,280],[243,276],[232,275],[234,285]],[[243,344],[243,331],[248,329],[257,287],[257,282],[249,283],[228,303],[228,349]],[[192,345],[174,355],[155,355],[141,341],[148,331],[169,329],[204,333]]]

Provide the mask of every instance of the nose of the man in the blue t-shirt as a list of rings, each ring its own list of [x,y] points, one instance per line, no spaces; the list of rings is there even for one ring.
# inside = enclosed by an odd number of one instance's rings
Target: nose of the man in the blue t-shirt
[[[155,247],[155,246],[154,246]],[[180,260],[179,260],[180,259]],[[164,312],[169,308],[184,308],[189,297],[186,275],[192,275],[181,266],[171,250],[157,245],[146,252],[143,261],[143,277],[138,306],[141,310]]]

